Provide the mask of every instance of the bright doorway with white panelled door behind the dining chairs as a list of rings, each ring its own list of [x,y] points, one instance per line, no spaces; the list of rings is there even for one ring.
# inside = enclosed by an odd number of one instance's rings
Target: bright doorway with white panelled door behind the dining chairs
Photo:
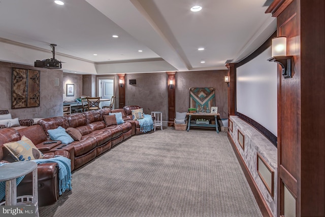
[[[114,96],[114,83],[115,83],[115,78],[114,77],[98,77],[97,78],[97,84],[98,84],[98,96],[101,97],[102,99],[111,99],[112,96]],[[101,102],[101,107],[104,105],[110,105],[110,101],[102,101]],[[115,106],[113,105],[114,109]]]

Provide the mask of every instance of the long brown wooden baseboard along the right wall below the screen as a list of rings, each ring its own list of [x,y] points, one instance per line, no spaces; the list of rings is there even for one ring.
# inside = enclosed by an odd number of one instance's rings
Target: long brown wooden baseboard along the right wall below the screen
[[[261,191],[259,191],[255,181],[254,181],[254,178],[253,176],[250,174],[249,170],[248,170],[248,167],[246,166],[245,162],[244,162],[244,159],[242,158],[242,156],[240,155],[237,147],[236,147],[236,144],[233,140],[233,138],[230,136],[229,132],[228,132],[228,140],[230,141],[230,143],[232,144],[232,147],[233,147],[233,150],[236,154],[236,157],[237,157],[237,160],[245,174],[245,177],[246,177],[246,180],[248,182],[248,185],[254,195],[254,198],[257,202],[257,205],[259,207],[259,210],[261,210],[262,212],[262,215],[265,216],[265,217],[273,217],[273,213],[272,211],[270,210],[269,206],[267,205]]]

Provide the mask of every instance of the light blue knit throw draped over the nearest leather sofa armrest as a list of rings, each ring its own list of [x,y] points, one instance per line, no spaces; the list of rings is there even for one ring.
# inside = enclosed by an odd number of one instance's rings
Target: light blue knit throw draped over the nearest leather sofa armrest
[[[66,190],[69,191],[72,190],[71,160],[69,158],[62,157],[62,156],[55,156],[54,158],[38,159],[32,161],[35,161],[37,164],[50,163],[50,162],[57,163],[59,166],[59,195],[61,195]]]

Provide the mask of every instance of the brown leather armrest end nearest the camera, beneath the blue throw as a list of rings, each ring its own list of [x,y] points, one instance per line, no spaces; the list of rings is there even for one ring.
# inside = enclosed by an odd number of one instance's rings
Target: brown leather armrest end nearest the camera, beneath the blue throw
[[[59,198],[58,166],[56,163],[44,163],[37,166],[39,206],[55,203]],[[32,195],[31,173],[25,175],[17,186],[17,195]]]

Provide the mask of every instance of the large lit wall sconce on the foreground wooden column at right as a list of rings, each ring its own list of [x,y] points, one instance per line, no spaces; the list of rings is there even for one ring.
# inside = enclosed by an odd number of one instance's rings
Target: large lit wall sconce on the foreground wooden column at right
[[[291,78],[291,60],[293,56],[286,55],[286,37],[276,37],[272,39],[272,57],[270,62],[279,63],[282,67],[282,76]]]

